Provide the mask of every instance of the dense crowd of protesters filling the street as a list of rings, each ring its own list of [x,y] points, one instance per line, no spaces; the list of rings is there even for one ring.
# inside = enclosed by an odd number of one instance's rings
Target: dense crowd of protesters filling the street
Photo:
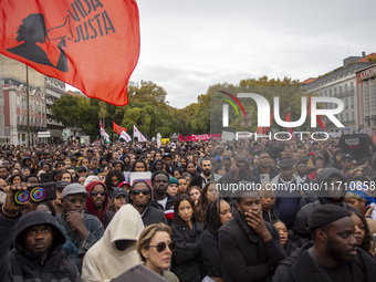
[[[0,279],[111,281],[144,264],[174,282],[375,281],[373,152],[267,138],[3,146]],[[43,182],[55,199],[30,202]]]

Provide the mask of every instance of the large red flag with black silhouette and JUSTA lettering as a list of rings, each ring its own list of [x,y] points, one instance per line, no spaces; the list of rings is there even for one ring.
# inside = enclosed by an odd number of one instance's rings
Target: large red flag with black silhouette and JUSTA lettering
[[[1,0],[0,53],[117,106],[139,54],[135,0]]]

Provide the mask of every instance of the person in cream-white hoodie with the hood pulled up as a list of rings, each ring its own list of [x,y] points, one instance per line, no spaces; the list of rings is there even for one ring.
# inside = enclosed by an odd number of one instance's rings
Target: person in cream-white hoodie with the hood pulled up
[[[108,282],[142,263],[136,243],[144,230],[139,212],[123,206],[114,216],[103,238],[85,254],[82,281]]]

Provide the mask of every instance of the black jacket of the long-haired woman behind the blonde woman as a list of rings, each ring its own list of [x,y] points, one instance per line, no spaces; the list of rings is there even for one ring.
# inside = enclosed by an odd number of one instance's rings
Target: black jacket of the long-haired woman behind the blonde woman
[[[200,248],[202,227],[195,222],[194,230],[190,230],[186,224],[174,223],[171,229],[171,240],[176,242],[171,271],[180,282],[201,281],[206,275]]]

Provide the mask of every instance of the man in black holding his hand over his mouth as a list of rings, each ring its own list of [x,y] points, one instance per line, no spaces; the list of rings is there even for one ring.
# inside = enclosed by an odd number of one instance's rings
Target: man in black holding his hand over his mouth
[[[257,190],[240,190],[236,196],[234,216],[218,231],[223,281],[271,281],[286,257],[279,232],[263,220]]]

